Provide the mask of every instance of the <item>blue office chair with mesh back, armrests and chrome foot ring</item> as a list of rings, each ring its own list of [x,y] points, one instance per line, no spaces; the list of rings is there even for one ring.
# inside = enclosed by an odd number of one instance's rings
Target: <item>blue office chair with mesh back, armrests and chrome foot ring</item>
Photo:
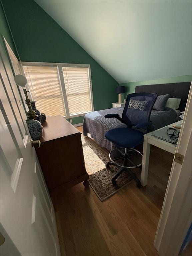
[[[122,118],[118,114],[105,115],[106,118],[117,118],[127,125],[127,128],[116,128],[105,133],[105,137],[110,142],[120,146],[120,148],[110,151],[109,158],[111,161],[106,164],[106,168],[109,168],[109,165],[121,167],[112,178],[113,185],[116,185],[117,177],[127,170],[129,175],[136,181],[137,187],[141,187],[140,180],[131,169],[141,167],[142,162],[135,165],[130,158],[134,154],[142,156],[135,147],[143,143],[143,135],[145,133],[153,130],[152,122],[149,120],[156,99],[157,95],[154,93],[132,93],[127,95]],[[124,153],[122,153],[122,148]],[[112,152],[115,150],[118,150],[122,156],[113,159]],[[123,163],[120,163],[120,161],[123,161]],[[132,164],[131,166],[128,165],[128,161]]]

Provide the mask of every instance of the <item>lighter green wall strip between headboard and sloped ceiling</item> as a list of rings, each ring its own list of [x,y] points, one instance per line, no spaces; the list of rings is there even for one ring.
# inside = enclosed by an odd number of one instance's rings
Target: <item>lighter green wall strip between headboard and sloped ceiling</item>
[[[188,76],[177,76],[177,77],[162,78],[162,79],[148,80],[148,81],[129,82],[129,83],[123,83],[120,85],[125,86],[126,94],[129,94],[129,93],[134,93],[135,87],[138,85],[191,82],[191,80],[192,80],[192,75],[188,75]]]

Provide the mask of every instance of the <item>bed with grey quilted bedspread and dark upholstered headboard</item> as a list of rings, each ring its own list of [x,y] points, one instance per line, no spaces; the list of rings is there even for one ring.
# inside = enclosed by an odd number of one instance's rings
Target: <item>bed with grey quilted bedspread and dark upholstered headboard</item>
[[[170,98],[181,98],[178,110],[184,111],[189,89],[190,82],[184,82],[136,86],[135,92],[150,92],[156,93],[157,95],[169,94]],[[104,116],[112,113],[121,116],[123,108],[111,108],[87,113],[83,121],[83,135],[87,136],[89,133],[99,145],[108,150],[111,150],[111,147],[115,148],[116,145],[111,145],[105,138],[105,132],[114,128],[126,127],[126,125],[116,118],[105,118]],[[150,121],[153,123],[154,130],[174,123],[178,118],[179,111],[176,112],[171,108],[165,108],[164,111],[152,110]]]

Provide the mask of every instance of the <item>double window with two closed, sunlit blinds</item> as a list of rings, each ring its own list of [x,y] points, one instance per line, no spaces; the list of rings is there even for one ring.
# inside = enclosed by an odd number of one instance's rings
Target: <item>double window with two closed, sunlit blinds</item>
[[[47,116],[80,116],[93,110],[89,66],[23,63],[36,107]]]

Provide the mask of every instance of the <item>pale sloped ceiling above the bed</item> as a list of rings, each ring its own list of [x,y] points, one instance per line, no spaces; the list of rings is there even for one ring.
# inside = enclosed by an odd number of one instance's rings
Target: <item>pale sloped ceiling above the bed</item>
[[[191,0],[35,0],[119,83],[192,73]]]

